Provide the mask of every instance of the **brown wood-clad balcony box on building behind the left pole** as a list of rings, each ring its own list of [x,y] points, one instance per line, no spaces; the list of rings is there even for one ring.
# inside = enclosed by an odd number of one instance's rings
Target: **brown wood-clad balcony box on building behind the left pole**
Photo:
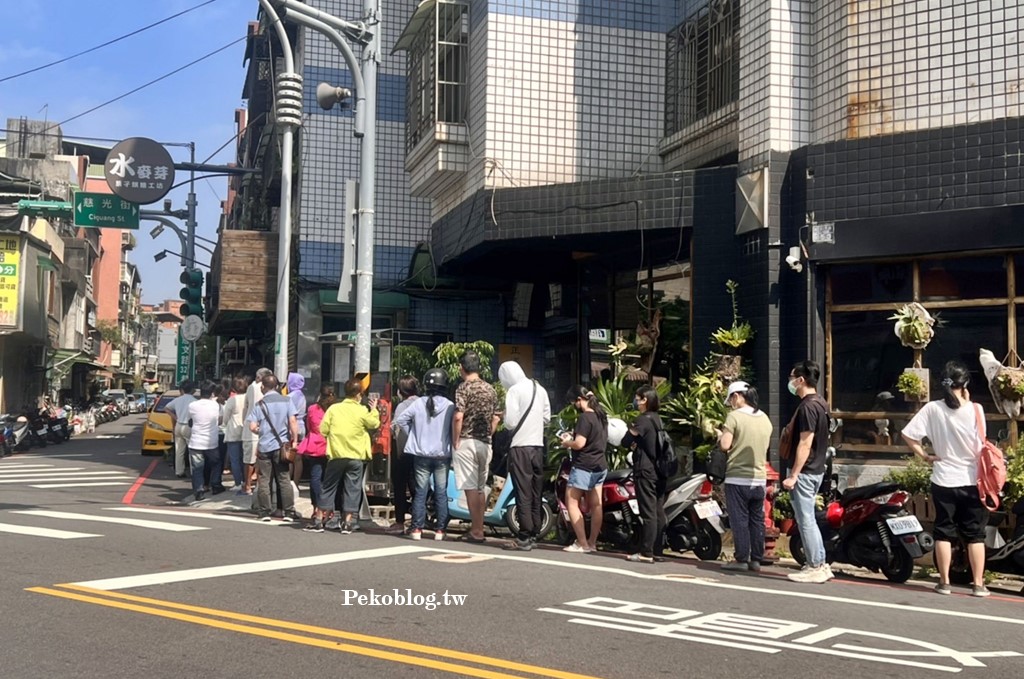
[[[222,230],[207,282],[211,332],[249,334],[267,323],[276,304],[278,234]]]

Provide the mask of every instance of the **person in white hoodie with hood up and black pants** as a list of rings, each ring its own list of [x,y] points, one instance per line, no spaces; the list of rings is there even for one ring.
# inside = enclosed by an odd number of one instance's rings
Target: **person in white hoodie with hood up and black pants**
[[[514,547],[534,549],[544,524],[544,427],[551,421],[548,392],[514,360],[498,368],[505,387],[505,428],[512,431],[508,466],[515,486],[519,534]]]

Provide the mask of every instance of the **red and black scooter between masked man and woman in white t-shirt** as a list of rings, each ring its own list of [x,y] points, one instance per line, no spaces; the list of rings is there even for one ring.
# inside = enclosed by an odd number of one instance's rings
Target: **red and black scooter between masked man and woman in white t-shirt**
[[[826,498],[836,499],[815,512],[828,563],[840,561],[881,571],[889,582],[905,583],[913,561],[935,548],[935,540],[906,510],[910,494],[896,483],[872,483],[839,493],[829,475]],[[800,532],[790,532],[790,551],[798,563],[807,561]]]

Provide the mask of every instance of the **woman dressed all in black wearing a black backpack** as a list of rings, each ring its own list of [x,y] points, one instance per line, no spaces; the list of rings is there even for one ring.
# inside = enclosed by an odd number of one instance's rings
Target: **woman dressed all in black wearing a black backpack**
[[[623,445],[633,451],[633,483],[637,493],[640,520],[643,523],[640,551],[626,557],[627,561],[652,563],[663,556],[662,536],[668,522],[665,516],[665,489],[668,479],[662,478],[654,466],[657,459],[657,432],[662,418],[657,411],[660,402],[654,387],[643,385],[636,390],[633,401],[640,416],[623,437]]]

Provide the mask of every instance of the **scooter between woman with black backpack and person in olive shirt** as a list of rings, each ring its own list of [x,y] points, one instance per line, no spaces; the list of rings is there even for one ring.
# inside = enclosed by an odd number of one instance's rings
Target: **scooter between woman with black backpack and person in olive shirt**
[[[713,490],[706,474],[669,481],[665,498],[665,541],[672,551],[692,551],[701,561],[721,556],[725,512],[712,499]]]

